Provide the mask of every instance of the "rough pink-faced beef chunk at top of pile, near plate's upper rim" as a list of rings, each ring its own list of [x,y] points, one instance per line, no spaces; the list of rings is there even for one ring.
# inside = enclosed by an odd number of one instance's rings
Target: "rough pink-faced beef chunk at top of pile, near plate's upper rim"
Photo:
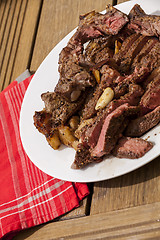
[[[108,7],[106,14],[95,17],[97,29],[108,35],[118,34],[128,21],[127,15],[114,7]]]

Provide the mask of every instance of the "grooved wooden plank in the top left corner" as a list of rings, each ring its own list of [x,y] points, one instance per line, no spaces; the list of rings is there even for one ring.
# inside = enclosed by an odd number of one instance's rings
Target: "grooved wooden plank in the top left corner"
[[[8,1],[9,2],[9,1]],[[0,91],[28,67],[42,1],[13,0],[5,7],[0,49]],[[7,13],[6,13],[7,12]],[[8,17],[6,15],[8,14]]]

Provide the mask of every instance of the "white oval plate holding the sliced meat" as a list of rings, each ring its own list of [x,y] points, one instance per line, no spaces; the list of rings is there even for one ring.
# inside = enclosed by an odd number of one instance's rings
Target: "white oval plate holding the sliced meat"
[[[129,13],[135,3],[139,3],[146,13],[160,13],[159,0],[129,1],[117,6],[118,9]],[[74,30],[75,31],[75,30]],[[45,173],[67,181],[93,182],[114,178],[133,171],[147,164],[159,155],[160,126],[144,136],[155,143],[153,149],[145,156],[137,160],[118,159],[110,157],[98,164],[91,164],[83,170],[70,168],[75,151],[71,148],[61,147],[53,150],[47,143],[45,137],[38,132],[33,125],[35,111],[44,107],[41,94],[53,91],[58,78],[58,57],[61,49],[66,46],[74,31],[68,34],[46,57],[35,73],[25,94],[20,114],[20,135],[24,149],[31,161]]]

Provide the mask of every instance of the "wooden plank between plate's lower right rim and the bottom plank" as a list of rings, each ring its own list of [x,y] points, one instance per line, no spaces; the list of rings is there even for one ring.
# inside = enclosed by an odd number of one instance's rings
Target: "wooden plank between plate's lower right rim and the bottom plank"
[[[91,215],[160,201],[159,169],[160,157],[131,173],[95,183]]]

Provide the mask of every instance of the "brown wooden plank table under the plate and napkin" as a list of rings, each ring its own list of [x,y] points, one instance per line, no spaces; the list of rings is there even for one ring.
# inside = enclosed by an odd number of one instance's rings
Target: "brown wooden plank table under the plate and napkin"
[[[0,90],[27,68],[35,72],[51,49],[77,26],[79,14],[120,2],[1,0]],[[79,208],[14,239],[160,239],[160,158],[89,187],[91,194]]]

